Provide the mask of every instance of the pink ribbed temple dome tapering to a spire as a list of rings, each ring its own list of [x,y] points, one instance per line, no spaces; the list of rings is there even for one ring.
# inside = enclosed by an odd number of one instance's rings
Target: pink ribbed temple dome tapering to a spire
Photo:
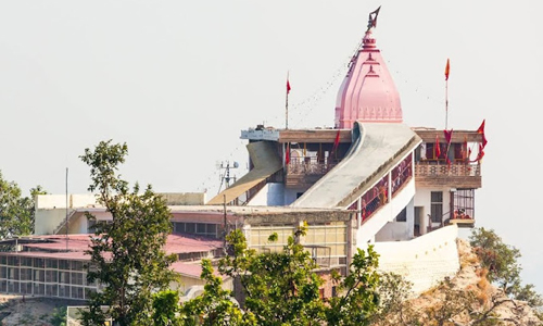
[[[336,128],[350,129],[356,121],[403,121],[400,93],[369,28],[363,43],[338,92]]]

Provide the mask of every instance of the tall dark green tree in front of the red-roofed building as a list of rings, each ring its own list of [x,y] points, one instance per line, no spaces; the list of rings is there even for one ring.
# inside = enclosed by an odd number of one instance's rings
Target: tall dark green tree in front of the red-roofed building
[[[89,190],[112,215],[109,223],[96,221],[87,279],[104,286],[92,293],[89,310],[81,311],[84,325],[103,325],[106,316],[119,325],[152,325],[153,293],[168,288],[175,279],[169,269],[175,255],[163,247],[172,230],[165,200],[151,186],[140,193],[121,179],[118,165],[128,153],[126,143],[101,141],[86,149],[83,162],[90,166]],[[109,306],[103,312],[101,306]]]

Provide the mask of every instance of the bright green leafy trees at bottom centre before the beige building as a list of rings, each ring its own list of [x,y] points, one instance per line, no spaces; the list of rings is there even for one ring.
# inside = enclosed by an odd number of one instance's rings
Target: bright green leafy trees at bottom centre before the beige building
[[[378,303],[377,253],[371,247],[367,252],[358,250],[348,277],[334,273],[341,296],[326,302],[319,296],[324,280],[315,272],[318,266],[299,241],[304,235],[302,227],[282,250],[256,253],[248,248],[241,230],[230,233],[229,255],[219,261],[218,271],[241,284],[245,294],[242,312],[232,305],[231,293],[220,290],[211,264],[204,262],[205,292],[185,304],[187,317],[190,311],[198,312],[205,325],[369,325]],[[269,237],[269,241],[276,240],[276,234]]]

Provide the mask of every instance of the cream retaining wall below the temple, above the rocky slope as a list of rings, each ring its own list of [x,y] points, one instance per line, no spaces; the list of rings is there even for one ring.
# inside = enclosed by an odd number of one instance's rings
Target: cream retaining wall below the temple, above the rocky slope
[[[376,242],[379,269],[404,276],[414,293],[421,293],[459,269],[457,236],[457,226],[451,225],[411,241]]]

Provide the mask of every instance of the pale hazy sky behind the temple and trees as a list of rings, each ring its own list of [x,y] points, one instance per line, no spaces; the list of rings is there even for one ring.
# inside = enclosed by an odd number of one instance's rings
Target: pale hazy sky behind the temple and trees
[[[78,155],[126,141],[124,176],[157,191],[219,185],[245,166],[240,130],[332,126],[334,99],[370,11],[411,126],[487,120],[477,225],[523,254],[543,291],[539,150],[543,23],[538,1],[2,1],[0,170],[26,192],[85,192]],[[237,171],[241,175],[244,168]]]

